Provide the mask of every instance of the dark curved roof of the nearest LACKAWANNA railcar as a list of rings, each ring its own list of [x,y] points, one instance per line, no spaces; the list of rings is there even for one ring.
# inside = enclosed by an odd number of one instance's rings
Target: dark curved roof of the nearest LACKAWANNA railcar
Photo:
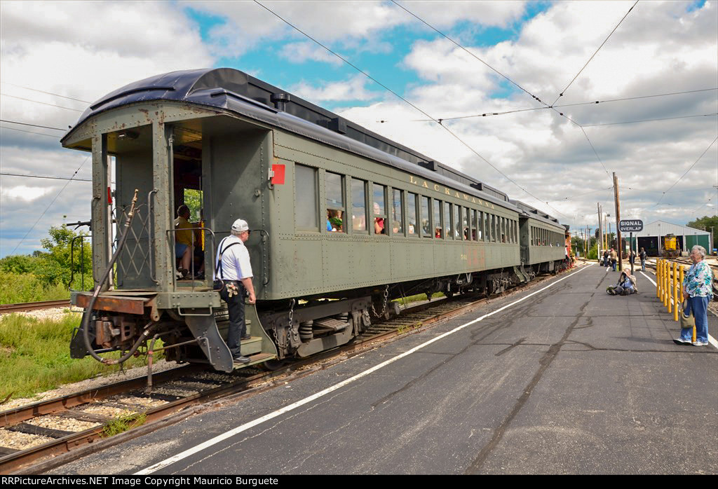
[[[272,107],[272,99],[275,97],[284,101],[284,110]],[[75,127],[65,134],[62,142],[93,115],[124,105],[153,100],[195,103],[247,115],[302,136],[382,161],[425,179],[440,181],[493,204],[520,211],[515,202],[509,201],[502,191],[383,138],[307,100],[230,68],[164,73],[118,88],[90,105]]]

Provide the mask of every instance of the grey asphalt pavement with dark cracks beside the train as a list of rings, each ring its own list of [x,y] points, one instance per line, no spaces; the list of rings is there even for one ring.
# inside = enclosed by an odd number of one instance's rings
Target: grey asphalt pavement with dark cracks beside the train
[[[718,349],[648,277],[584,266],[52,473],[718,473]]]

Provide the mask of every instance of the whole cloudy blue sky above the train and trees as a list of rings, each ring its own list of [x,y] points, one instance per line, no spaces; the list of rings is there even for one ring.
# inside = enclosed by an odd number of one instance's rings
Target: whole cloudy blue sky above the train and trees
[[[622,219],[718,214],[716,1],[3,0],[0,257],[89,219],[90,158],[60,145],[88,105],[202,67],[248,72],[571,229],[595,228],[597,203],[615,216],[613,172]]]

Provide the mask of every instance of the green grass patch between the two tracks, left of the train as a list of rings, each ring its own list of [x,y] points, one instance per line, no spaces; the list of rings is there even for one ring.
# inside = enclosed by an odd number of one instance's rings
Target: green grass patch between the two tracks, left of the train
[[[112,374],[118,366],[104,365],[87,356],[70,358],[73,328],[80,315],[67,314],[60,321],[42,320],[19,314],[0,318],[0,401],[6,397],[32,397],[61,384]],[[156,345],[157,346],[157,345]],[[103,356],[119,358],[119,352]],[[162,359],[155,355],[155,361]],[[144,356],[125,362],[126,369],[145,364]],[[1,409],[1,407],[0,407]]]

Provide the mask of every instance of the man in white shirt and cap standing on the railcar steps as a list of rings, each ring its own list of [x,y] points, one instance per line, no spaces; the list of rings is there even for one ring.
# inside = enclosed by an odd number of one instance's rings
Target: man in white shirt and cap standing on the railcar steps
[[[242,356],[240,346],[242,340],[251,338],[246,331],[244,321],[244,298],[248,295],[249,303],[256,303],[252,285],[252,265],[249,252],[244,242],[249,239],[249,227],[243,219],[232,224],[231,234],[220,241],[217,247],[215,262],[215,289],[220,289],[220,297],[227,303],[229,310],[229,332],[227,346],[232,358],[240,364],[247,364],[249,358]]]

